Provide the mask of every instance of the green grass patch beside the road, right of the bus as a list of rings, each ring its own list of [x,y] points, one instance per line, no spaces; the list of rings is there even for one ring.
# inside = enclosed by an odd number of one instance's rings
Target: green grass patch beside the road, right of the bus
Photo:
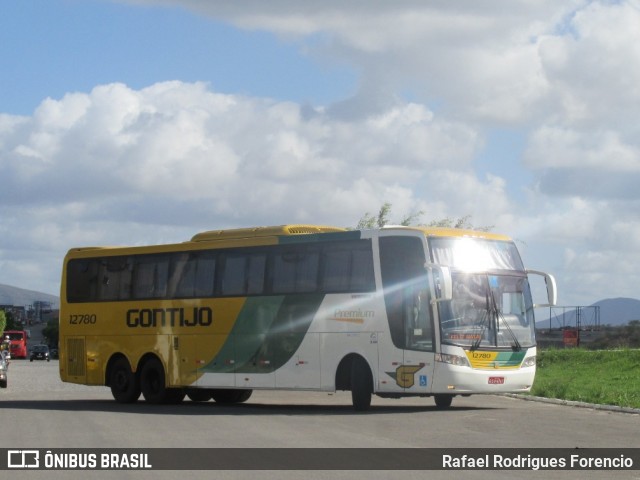
[[[538,351],[531,395],[640,408],[640,350]]]

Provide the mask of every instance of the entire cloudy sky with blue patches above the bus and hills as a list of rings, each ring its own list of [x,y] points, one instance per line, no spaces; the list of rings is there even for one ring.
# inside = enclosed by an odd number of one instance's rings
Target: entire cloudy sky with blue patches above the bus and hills
[[[640,1],[6,0],[0,283],[75,246],[471,215],[639,298]]]

